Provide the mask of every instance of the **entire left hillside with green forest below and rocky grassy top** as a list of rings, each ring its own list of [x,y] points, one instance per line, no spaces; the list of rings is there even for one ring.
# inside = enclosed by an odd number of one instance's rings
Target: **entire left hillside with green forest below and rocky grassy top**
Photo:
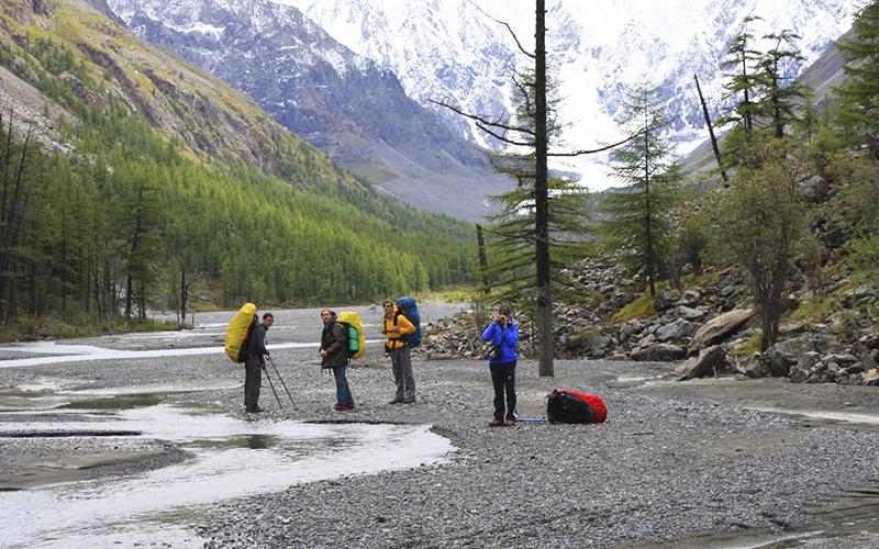
[[[86,3],[4,3],[0,65],[7,326],[179,307],[181,289],[316,304],[469,277],[469,225],[380,197]]]

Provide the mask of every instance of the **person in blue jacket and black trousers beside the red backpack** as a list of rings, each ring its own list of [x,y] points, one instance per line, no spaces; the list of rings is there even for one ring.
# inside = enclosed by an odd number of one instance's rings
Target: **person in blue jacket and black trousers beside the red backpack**
[[[502,304],[491,315],[491,324],[482,332],[482,340],[491,341],[488,367],[491,370],[491,384],[494,386],[494,418],[492,427],[515,425],[515,348],[519,345],[519,326],[513,322],[513,310]],[[507,413],[504,414],[504,392]]]

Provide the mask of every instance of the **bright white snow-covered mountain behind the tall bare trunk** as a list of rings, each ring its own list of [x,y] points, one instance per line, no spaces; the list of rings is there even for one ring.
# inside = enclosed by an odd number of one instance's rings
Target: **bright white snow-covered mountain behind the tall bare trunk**
[[[398,75],[407,93],[424,105],[452,98],[465,110],[497,115],[508,104],[509,76],[524,60],[509,23],[533,44],[531,0],[275,0],[300,8],[341,43]],[[559,112],[570,126],[571,148],[620,136],[614,123],[626,89],[641,80],[657,86],[680,150],[704,138],[693,86],[698,74],[714,115],[721,105],[724,57],[742,21],[758,15],[761,36],[790,29],[805,56],[817,58],[852,24],[852,0],[547,0],[547,51],[560,81]],[[438,111],[460,135],[485,143],[469,124]],[[592,188],[612,184],[602,158],[578,167]],[[591,165],[591,167],[590,167]]]

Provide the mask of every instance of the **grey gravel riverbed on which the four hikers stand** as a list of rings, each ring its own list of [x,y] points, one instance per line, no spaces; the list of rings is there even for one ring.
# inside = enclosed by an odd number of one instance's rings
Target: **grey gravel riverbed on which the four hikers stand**
[[[276,336],[269,348],[310,337]],[[205,336],[202,344],[216,339]],[[429,424],[455,446],[448,460],[200,506],[185,526],[205,547],[723,547],[721,537],[733,540],[728,547],[758,547],[742,541],[830,531],[834,524],[819,511],[879,479],[875,426],[783,413],[808,408],[879,418],[875,388],[731,379],[678,383],[667,381],[671,365],[578,360],[557,361],[554,378],[539,378],[526,360],[516,371],[521,417],[543,418],[545,395],[570,388],[601,394],[608,422],[525,421],[489,428],[491,386],[483,362],[416,359],[418,403],[390,405],[388,360],[379,345],[368,349],[349,370],[353,412],[331,410],[334,383],[316,366],[316,347],[274,351],[299,410],[289,405],[269,369],[285,407],[264,381],[260,403],[267,412],[258,421]],[[29,421],[29,408],[20,405],[22,386],[54,386],[41,390],[53,399],[162,393],[169,402],[210,404],[257,419],[243,412],[242,382],[243,369],[222,355],[0,368],[0,408],[19,406],[15,414],[0,413],[0,422]],[[57,422],[63,430],[65,418]],[[69,444],[42,440],[41,449],[33,441],[4,448],[0,473],[31,453]],[[107,444],[94,440],[93,448]],[[141,444],[151,452],[162,449],[160,441]],[[63,459],[56,453],[53,459]],[[134,459],[131,468],[180,459],[186,457],[168,449],[165,458]],[[108,473],[131,468],[116,463]],[[875,547],[877,519],[879,509],[858,518],[857,533],[803,547]]]

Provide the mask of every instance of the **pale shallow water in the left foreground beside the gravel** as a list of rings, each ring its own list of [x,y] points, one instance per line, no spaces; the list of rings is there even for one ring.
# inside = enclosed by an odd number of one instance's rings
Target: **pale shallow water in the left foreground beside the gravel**
[[[190,524],[198,505],[348,474],[442,463],[452,450],[427,426],[245,422],[165,404],[125,410],[98,424],[2,425],[0,437],[11,430],[59,428],[138,430],[196,457],[133,477],[0,493],[3,547],[132,545],[147,535],[152,542],[198,546],[191,531],[174,526],[181,514]]]

